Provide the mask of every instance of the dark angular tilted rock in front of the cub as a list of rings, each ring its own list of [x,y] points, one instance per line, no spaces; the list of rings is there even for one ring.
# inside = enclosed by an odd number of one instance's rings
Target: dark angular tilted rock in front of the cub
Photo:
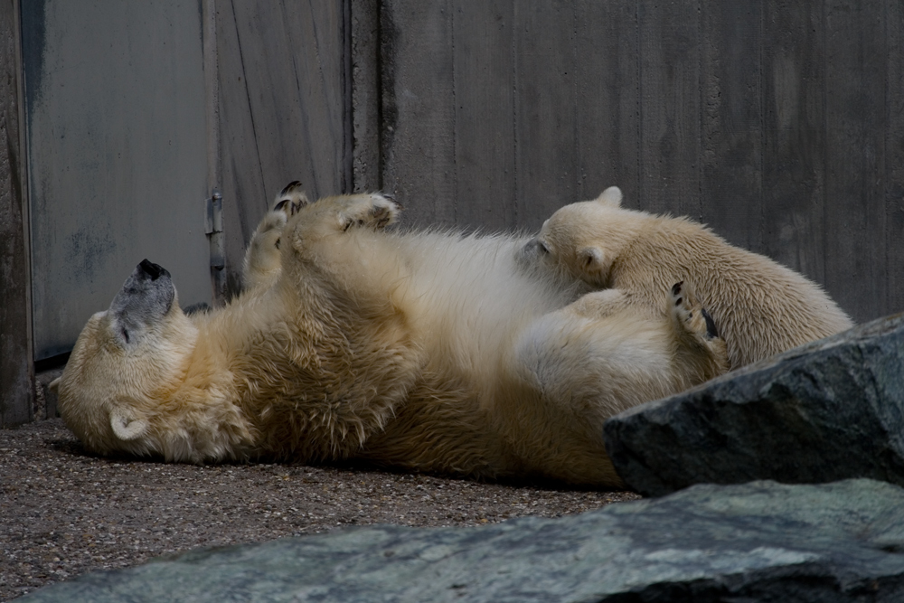
[[[754,479],[904,485],[904,315],[628,410],[604,437],[643,495]]]

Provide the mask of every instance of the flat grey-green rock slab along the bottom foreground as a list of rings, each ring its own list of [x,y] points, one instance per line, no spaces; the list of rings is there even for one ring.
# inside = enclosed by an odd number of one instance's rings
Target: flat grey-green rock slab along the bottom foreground
[[[900,601],[904,489],[699,485],[555,520],[375,526],[193,551],[20,600]]]

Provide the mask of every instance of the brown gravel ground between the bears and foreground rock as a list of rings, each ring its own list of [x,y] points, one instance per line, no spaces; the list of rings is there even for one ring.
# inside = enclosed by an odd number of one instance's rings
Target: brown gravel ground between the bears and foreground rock
[[[194,547],[367,523],[558,517],[636,498],[351,468],[100,458],[61,419],[42,420],[0,429],[0,601]]]

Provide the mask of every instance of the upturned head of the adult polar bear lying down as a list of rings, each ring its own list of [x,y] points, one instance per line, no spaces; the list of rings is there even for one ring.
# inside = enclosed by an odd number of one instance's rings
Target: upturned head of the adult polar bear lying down
[[[184,371],[196,334],[169,272],[142,261],[109,309],[90,317],[51,383],[66,425],[100,454],[159,452],[155,400]]]

